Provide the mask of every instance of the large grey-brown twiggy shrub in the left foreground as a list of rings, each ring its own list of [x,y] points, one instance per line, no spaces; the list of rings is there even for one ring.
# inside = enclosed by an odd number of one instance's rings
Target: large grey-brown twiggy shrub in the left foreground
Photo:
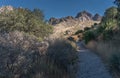
[[[33,78],[43,71],[35,69],[35,65],[42,66],[41,59],[47,47],[46,42],[39,42],[35,36],[23,32],[0,34],[0,76]]]

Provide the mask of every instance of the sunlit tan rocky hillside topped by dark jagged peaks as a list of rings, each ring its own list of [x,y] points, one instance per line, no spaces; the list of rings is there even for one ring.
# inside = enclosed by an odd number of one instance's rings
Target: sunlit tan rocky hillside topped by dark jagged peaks
[[[102,16],[99,14],[92,15],[87,11],[79,12],[75,17],[67,16],[63,18],[50,18],[49,24],[54,26],[52,37],[63,36],[66,31],[74,33],[77,30],[83,30],[85,27],[91,27],[94,23],[100,23]]]

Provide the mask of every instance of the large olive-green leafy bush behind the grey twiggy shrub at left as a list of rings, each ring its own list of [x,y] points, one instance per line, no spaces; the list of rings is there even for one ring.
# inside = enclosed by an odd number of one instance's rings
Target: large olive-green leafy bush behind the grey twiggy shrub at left
[[[53,27],[43,20],[41,10],[16,8],[0,14],[0,32],[22,31],[43,39],[52,33]]]

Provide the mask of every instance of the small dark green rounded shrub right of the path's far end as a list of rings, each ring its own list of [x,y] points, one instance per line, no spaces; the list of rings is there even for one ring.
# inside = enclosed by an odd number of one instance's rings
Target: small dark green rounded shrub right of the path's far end
[[[85,43],[87,44],[90,40],[94,40],[95,39],[95,34],[93,31],[86,31],[84,33],[84,40]]]

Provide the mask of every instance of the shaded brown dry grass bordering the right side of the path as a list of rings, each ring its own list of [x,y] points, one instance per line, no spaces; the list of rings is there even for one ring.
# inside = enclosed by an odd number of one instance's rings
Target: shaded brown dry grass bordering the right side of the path
[[[117,39],[116,39],[117,38]],[[120,77],[120,37],[119,34],[114,40],[106,41],[90,41],[87,47],[98,54],[114,78]]]

